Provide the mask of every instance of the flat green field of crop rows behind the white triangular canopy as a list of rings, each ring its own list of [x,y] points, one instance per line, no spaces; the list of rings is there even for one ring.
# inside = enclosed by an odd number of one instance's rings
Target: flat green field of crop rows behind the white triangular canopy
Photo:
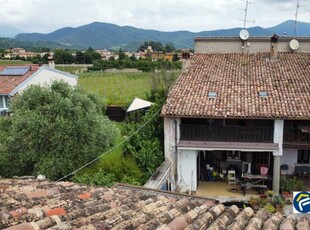
[[[104,96],[108,105],[128,105],[135,97],[145,99],[151,89],[153,73],[89,72],[79,75],[78,86],[86,92]]]

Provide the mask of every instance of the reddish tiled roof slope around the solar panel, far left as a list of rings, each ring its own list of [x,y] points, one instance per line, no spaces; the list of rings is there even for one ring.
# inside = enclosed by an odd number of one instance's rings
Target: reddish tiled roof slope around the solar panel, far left
[[[40,67],[39,65],[23,65],[30,66],[30,69],[22,76],[0,76],[0,95],[8,95],[16,86],[20,85],[23,81],[29,78],[32,74],[34,74]],[[0,72],[4,70],[6,67],[13,66],[0,66]],[[14,66],[14,67],[22,67]]]

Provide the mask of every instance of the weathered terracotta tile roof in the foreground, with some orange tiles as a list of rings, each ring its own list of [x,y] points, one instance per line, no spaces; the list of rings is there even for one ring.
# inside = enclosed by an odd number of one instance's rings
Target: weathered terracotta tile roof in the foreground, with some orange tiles
[[[309,229],[306,217],[254,213],[200,197],[118,185],[0,180],[1,229]]]

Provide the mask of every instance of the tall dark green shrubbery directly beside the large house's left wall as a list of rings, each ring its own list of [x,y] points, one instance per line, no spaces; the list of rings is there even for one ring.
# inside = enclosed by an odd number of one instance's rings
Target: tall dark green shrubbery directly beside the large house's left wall
[[[160,111],[168,89],[176,77],[175,72],[154,73],[152,89],[147,98],[155,103],[145,116],[143,113],[135,114],[134,119],[129,117],[125,125],[128,134],[140,129],[133,138],[126,142],[124,153],[125,156],[132,156],[144,172],[144,182],[164,160],[164,127]]]

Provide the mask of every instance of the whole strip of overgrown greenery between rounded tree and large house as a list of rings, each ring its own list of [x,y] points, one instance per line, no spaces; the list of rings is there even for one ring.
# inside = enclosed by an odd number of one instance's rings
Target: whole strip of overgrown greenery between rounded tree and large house
[[[124,123],[118,124],[122,127],[118,143],[127,137],[131,138],[120,145],[116,152],[104,156],[93,167],[78,173],[73,178],[75,182],[105,186],[116,182],[136,185],[146,182],[164,159],[164,130],[160,110],[177,75],[178,72],[152,73],[146,99],[155,102],[154,105],[146,114],[136,112]]]

